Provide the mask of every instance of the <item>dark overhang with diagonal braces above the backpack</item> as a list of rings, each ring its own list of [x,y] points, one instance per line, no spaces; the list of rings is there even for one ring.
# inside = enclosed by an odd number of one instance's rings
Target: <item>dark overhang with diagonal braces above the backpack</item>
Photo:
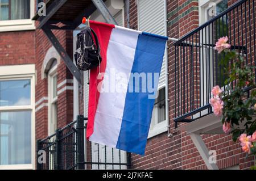
[[[100,11],[106,22],[117,24],[105,5],[106,0],[48,0],[44,7],[40,7],[38,13],[32,18],[39,22],[36,28],[41,28],[49,41],[55,47],[67,68],[77,81],[82,84],[82,74],[71,57],[61,46],[59,40],[52,30],[75,30],[83,17],[89,17],[97,9]],[[46,10],[45,16],[40,16]],[[39,14],[40,12],[40,14]]]

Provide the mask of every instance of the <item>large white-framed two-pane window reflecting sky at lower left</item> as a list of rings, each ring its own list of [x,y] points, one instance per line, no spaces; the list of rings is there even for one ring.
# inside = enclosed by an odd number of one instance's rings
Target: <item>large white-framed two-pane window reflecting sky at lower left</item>
[[[34,65],[0,66],[0,169],[33,168],[34,71]]]

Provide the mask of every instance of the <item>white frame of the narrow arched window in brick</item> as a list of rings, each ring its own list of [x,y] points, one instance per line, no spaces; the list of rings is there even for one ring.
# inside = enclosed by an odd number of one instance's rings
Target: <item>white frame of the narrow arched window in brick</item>
[[[57,102],[57,98],[58,96],[56,95],[55,98],[52,99],[52,96],[53,96],[53,77],[57,76],[57,65],[53,66],[53,68],[51,68],[48,72],[48,135],[52,134],[51,133],[51,121],[52,119],[55,119],[53,118],[54,115],[52,115],[52,104],[56,103]],[[57,87],[56,87],[57,89]],[[57,124],[57,120],[56,121],[56,124]]]

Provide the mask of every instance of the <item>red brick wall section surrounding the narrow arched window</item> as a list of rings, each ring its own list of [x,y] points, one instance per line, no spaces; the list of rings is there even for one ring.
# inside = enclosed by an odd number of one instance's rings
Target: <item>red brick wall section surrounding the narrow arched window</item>
[[[72,31],[53,31],[60,44],[72,57],[73,53],[73,32]],[[41,69],[44,57],[52,44],[47,39],[47,36],[42,30],[36,30],[36,102],[46,97],[48,98],[48,78],[41,78]],[[65,66],[61,59],[60,64],[57,65],[57,85],[60,85],[65,80],[73,79],[72,74]],[[57,88],[57,91],[64,89],[57,98],[57,127],[62,128],[73,120],[73,90],[68,90],[67,86],[73,86],[73,83],[66,82]],[[66,90],[65,90],[66,89]],[[36,111],[36,139],[48,136],[48,101],[44,100],[41,104],[46,103],[45,106]]]

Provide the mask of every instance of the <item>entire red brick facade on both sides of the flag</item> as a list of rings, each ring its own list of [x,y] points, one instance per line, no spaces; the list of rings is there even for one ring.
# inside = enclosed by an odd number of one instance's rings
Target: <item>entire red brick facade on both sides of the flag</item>
[[[168,14],[168,36],[179,39],[181,36],[199,26],[198,1],[189,1],[187,6],[179,9],[187,0],[173,1],[167,0]],[[236,1],[229,1],[232,5]],[[188,11],[188,14],[179,18],[179,15]],[[137,3],[130,0],[130,28],[137,30]],[[127,24],[127,22],[126,22]],[[59,39],[61,45],[72,57],[73,53],[73,32],[53,31]],[[47,39],[42,30],[0,32],[0,66],[17,64],[35,64],[36,85],[36,139],[48,136],[48,78],[42,78],[42,66],[44,58],[52,44]],[[132,154],[131,162],[133,169],[207,169],[199,151],[195,148],[191,138],[186,132],[175,129],[175,50],[173,42],[168,42],[168,89],[169,89],[169,119],[170,132],[172,137],[167,136],[167,132],[148,139],[146,155]],[[63,60],[57,66],[57,85],[61,93],[57,98],[57,127],[61,128],[73,120],[73,83],[67,80],[73,79],[72,74],[65,66]],[[64,82],[64,83],[63,83]],[[62,83],[62,85],[61,85]],[[83,113],[82,88],[80,87],[80,113]],[[217,165],[220,169],[232,166],[239,166],[240,169],[249,169],[254,165],[254,158],[246,158],[242,153],[238,142],[234,143],[231,136],[224,135],[203,135],[203,140],[209,150],[217,151]],[[89,144],[88,144],[89,145]],[[89,149],[89,147],[88,147]],[[90,151],[88,150],[88,153]],[[90,157],[90,155],[89,155]]]

